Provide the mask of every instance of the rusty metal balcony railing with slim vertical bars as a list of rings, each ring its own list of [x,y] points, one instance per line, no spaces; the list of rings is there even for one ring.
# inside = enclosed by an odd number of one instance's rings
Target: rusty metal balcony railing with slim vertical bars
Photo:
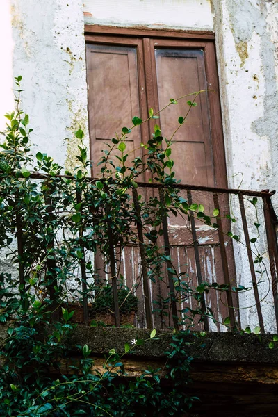
[[[60,175],[57,178],[66,178],[72,181],[76,181],[74,177],[70,177],[67,175]],[[32,179],[40,179],[42,181],[47,181],[49,177],[44,174],[34,173],[31,174]],[[93,178],[86,178],[85,181],[94,182],[96,179]],[[161,202],[164,200],[164,189],[166,186],[160,183],[137,183],[138,188],[140,189],[148,189],[153,190],[159,196]],[[261,298],[259,294],[259,284],[256,278],[256,270],[254,266],[254,251],[252,250],[250,244],[250,224],[248,224],[248,215],[246,214],[245,208],[245,199],[248,197],[256,197],[259,199],[263,205],[262,210],[259,213],[261,220],[263,220],[264,227],[265,227],[265,235],[267,240],[267,252],[268,252],[268,259],[269,259],[269,269],[270,269],[270,277],[271,277],[271,284],[272,284],[272,295],[273,295],[273,304],[275,309],[275,318],[276,324],[278,328],[278,292],[277,292],[277,271],[278,271],[278,246],[277,246],[277,236],[275,231],[275,225],[277,223],[277,218],[275,216],[275,212],[272,207],[271,197],[275,193],[275,191],[270,192],[269,190],[263,191],[252,191],[252,190],[239,190],[239,189],[231,189],[231,188],[214,188],[214,187],[206,187],[206,186],[193,186],[187,184],[173,184],[171,185],[172,188],[177,188],[181,191],[181,193],[185,193],[186,199],[188,201],[189,206],[193,203],[193,200],[196,197],[197,193],[203,193],[205,195],[205,199],[213,209],[218,210],[218,215],[215,218],[215,222],[218,225],[218,228],[215,229],[215,234],[213,235],[213,239],[216,239],[215,236],[218,236],[218,240],[213,240],[213,243],[210,243],[208,239],[208,243],[203,243],[198,238],[199,230],[202,229],[199,225],[199,219],[195,218],[192,211],[189,211],[188,215],[188,222],[185,225],[179,224],[178,227],[172,226],[169,222],[169,218],[165,215],[163,218],[163,238],[164,238],[164,251],[165,251],[165,259],[167,259],[166,263],[166,271],[167,271],[167,283],[158,283],[159,291],[155,294],[154,291],[154,284],[149,281],[148,277],[148,267],[147,267],[147,260],[146,260],[146,253],[145,253],[145,237],[144,237],[144,222],[141,218],[140,213],[140,205],[138,204],[138,191],[136,188],[133,189],[132,197],[131,197],[131,204],[134,204],[136,208],[136,228],[138,233],[138,257],[140,261],[138,261],[138,265],[140,266],[140,275],[142,276],[142,288],[140,291],[142,292],[142,300],[140,301],[140,309],[143,311],[144,318],[139,323],[139,320],[135,323],[136,325],[146,326],[148,328],[153,327],[154,325],[158,325],[158,315],[154,313],[154,298],[156,295],[160,295],[166,291],[170,296],[169,302],[169,310],[171,315],[171,322],[174,327],[179,327],[179,317],[181,313],[179,312],[179,305],[176,300],[177,291],[175,290],[174,286],[174,279],[172,276],[172,264],[170,263],[169,259],[173,256],[174,250],[179,251],[183,248],[186,250],[193,250],[194,259],[191,258],[190,262],[194,263],[195,266],[192,269],[194,270],[195,274],[195,281],[197,286],[200,286],[202,282],[207,280],[206,272],[204,270],[203,261],[204,260],[204,250],[206,251],[207,247],[213,247],[213,251],[218,252],[218,255],[213,259],[213,263],[217,263],[218,265],[218,277],[215,276],[215,279],[220,278],[222,284],[226,285],[224,291],[222,293],[225,294],[226,300],[222,302],[222,309],[226,309],[227,316],[229,316],[229,323],[231,328],[240,327],[240,306],[238,304],[238,293],[233,291],[232,288],[236,286],[236,266],[234,264],[234,249],[233,245],[231,244],[231,238],[227,235],[231,230],[231,204],[238,204],[237,213],[240,216],[240,222],[237,222],[236,227],[240,227],[241,234],[243,239],[241,239],[241,243],[245,247],[247,252],[247,261],[250,268],[250,281],[252,282],[252,289],[254,293],[254,300],[256,306],[256,314],[259,322],[259,326],[261,327],[261,332],[265,332],[265,320],[263,318],[263,311],[261,308]],[[238,196],[238,202],[230,201],[230,197]],[[83,195],[81,195],[79,190],[76,190],[76,201],[81,202]],[[47,193],[44,195],[44,200],[47,204],[49,216],[51,217],[51,201],[49,201],[50,197]],[[202,203],[202,199],[198,201]],[[247,202],[248,204],[248,202]],[[187,244],[183,244],[181,242],[174,243],[171,241],[170,234],[172,233],[172,229],[176,227],[179,229],[179,234],[182,237],[183,231],[186,231],[188,234],[191,234],[191,241]],[[171,229],[172,228],[172,229]],[[206,233],[207,231],[204,231]],[[203,233],[203,229],[202,229]],[[80,238],[83,238],[83,229],[82,226],[79,230]],[[172,236],[172,235],[171,235]],[[24,272],[22,268],[22,264],[20,262],[20,256],[24,251],[24,243],[22,240],[22,226],[21,226],[21,219],[20,215],[17,215],[17,250],[19,255],[19,281],[24,285]],[[113,240],[113,230],[110,228],[108,230],[108,240],[110,243],[110,251],[108,254],[109,257],[109,264],[110,264],[110,275],[111,275],[111,282],[113,288],[113,300],[114,300],[114,318],[115,318],[115,326],[120,327],[121,323],[121,314],[120,314],[120,305],[117,300],[117,259],[115,257],[115,251],[117,247],[114,245]],[[182,240],[182,238],[181,238]],[[54,241],[49,243],[50,247],[54,247]],[[184,252],[184,251],[183,251]],[[191,253],[191,252],[190,252]],[[83,257],[84,258],[84,257]],[[188,257],[189,259],[189,257]],[[203,263],[202,263],[203,262]],[[138,266],[137,265],[137,266]],[[138,268],[139,268],[138,266]],[[55,261],[49,260],[48,265],[49,270],[55,270]],[[194,275],[193,274],[193,275]],[[216,274],[217,275],[217,274]],[[86,277],[86,269],[85,269],[85,261],[84,259],[81,260],[81,277],[82,277],[82,292],[83,292],[83,322],[88,324],[90,322],[90,306],[88,305],[88,286],[87,286],[87,277]],[[248,281],[247,277],[245,277],[245,281]],[[56,279],[51,284],[51,288],[49,288],[50,297],[53,297],[54,293],[54,286],[56,285]],[[163,287],[164,286],[164,287]],[[135,286],[136,287],[136,286]],[[138,287],[136,287],[136,291],[138,291]],[[215,303],[217,304],[219,299],[215,297]],[[188,302],[187,302],[188,303]],[[200,309],[202,314],[204,315],[202,320],[203,328],[208,331],[211,329],[208,320],[208,311],[209,309],[217,309],[217,306],[209,305],[210,302],[208,297],[206,297],[206,293],[202,293],[199,298]],[[224,306],[224,307],[223,307]],[[181,309],[180,309],[181,310]],[[170,323],[170,321],[169,321]],[[169,324],[168,323],[168,324]],[[219,327],[220,329],[220,327]]]

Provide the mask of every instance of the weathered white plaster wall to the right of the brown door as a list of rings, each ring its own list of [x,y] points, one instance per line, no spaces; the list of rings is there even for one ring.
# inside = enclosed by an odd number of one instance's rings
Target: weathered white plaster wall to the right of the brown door
[[[241,188],[278,188],[277,11],[277,1],[213,1],[227,172],[233,188],[241,178]],[[273,203],[277,209],[277,197]],[[234,213],[239,214],[236,204]],[[247,214],[252,224],[252,211]],[[238,227],[235,231],[243,238]],[[259,250],[268,266],[263,227],[260,232]],[[234,249],[239,284],[250,286],[245,250],[238,245]],[[275,315],[269,278],[264,277],[259,291],[266,328],[273,331]],[[258,323],[255,309],[248,308],[252,305],[252,291],[240,296],[243,327]]]

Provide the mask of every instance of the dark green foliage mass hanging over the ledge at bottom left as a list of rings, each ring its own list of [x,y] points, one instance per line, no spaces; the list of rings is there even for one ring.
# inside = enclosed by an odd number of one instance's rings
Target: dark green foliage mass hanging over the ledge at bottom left
[[[28,318],[35,316],[33,326]],[[186,395],[190,361],[186,354],[186,333],[173,336],[166,352],[167,377],[171,389],[163,386],[161,370],[146,370],[136,379],[124,375],[122,357],[115,350],[104,361],[103,373],[94,370],[88,346],[79,347],[81,359],[70,360],[72,325],[46,324],[40,308],[28,310],[9,329],[1,356],[1,416],[179,416],[195,400]],[[67,372],[61,368],[67,361]]]

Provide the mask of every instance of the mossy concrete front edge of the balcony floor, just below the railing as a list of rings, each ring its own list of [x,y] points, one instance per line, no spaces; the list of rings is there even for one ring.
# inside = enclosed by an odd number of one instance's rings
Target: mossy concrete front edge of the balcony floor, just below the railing
[[[147,329],[78,326],[74,329],[72,343],[86,344],[94,354],[104,354],[112,348],[123,353],[125,343],[131,345],[131,341],[139,338],[146,340],[150,332]],[[156,336],[158,340],[147,340],[143,345],[136,346],[133,356],[149,359],[165,357],[165,351],[170,348],[172,334],[158,331]],[[190,344],[187,350],[197,361],[278,363],[278,343],[273,349],[268,347],[273,335],[263,334],[260,338],[255,334],[208,332],[205,336],[188,336]]]

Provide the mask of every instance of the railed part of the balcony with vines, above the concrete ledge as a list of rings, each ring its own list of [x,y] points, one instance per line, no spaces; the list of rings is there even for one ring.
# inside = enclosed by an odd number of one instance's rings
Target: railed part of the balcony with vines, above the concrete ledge
[[[2,217],[17,207],[16,227],[2,222],[2,286],[33,291],[54,320],[63,307],[91,327],[276,330],[275,192],[138,182],[115,194],[113,180],[38,173],[16,181],[15,196],[1,196]]]

